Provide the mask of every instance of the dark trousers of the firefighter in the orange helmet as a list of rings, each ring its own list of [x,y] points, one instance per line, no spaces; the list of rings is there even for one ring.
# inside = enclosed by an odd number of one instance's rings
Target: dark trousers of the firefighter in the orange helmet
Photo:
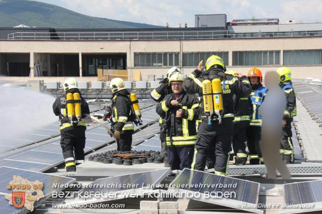
[[[250,152],[250,164],[260,164],[261,152],[261,131],[260,126],[249,126],[247,129],[247,147]]]

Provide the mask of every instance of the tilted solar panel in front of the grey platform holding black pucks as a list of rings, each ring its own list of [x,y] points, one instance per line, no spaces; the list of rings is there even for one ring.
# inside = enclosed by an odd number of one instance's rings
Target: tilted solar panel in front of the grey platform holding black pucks
[[[103,197],[91,197],[86,200],[68,200],[66,203],[93,203],[107,200],[115,200],[125,198],[122,193],[125,192],[140,192],[152,191],[158,183],[160,183],[169,173],[170,169],[157,169],[146,172],[139,172],[134,174],[120,175],[115,177],[97,179],[91,185],[93,188],[86,187],[79,192],[102,192]],[[116,193],[116,197],[108,197],[107,193]]]

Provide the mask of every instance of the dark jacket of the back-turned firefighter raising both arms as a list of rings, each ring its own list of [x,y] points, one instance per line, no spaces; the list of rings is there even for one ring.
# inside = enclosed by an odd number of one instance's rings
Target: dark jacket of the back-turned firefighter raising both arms
[[[221,69],[210,68],[207,74],[202,74],[198,69],[194,70],[184,81],[184,87],[188,93],[199,93],[202,97],[202,81],[214,78],[221,80],[221,87],[223,92],[223,118],[233,118],[234,115],[234,101],[233,94],[237,97],[249,96],[252,88],[246,76],[239,79],[230,74],[225,74]],[[202,116],[205,115],[203,108],[203,101],[201,101]],[[203,118],[203,117],[202,117]]]

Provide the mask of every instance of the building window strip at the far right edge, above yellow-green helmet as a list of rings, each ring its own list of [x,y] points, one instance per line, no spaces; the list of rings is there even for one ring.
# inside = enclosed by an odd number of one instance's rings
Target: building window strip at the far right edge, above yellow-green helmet
[[[284,65],[320,65],[322,50],[283,51]]]

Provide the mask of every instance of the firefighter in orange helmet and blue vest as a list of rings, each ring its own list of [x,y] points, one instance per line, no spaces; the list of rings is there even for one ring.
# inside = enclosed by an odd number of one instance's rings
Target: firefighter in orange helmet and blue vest
[[[258,68],[249,70],[247,77],[252,85],[252,93],[249,97],[249,108],[251,113],[250,126],[247,129],[247,147],[249,150],[250,164],[264,163],[260,148],[262,116],[258,114],[267,88],[262,85],[262,72]]]

